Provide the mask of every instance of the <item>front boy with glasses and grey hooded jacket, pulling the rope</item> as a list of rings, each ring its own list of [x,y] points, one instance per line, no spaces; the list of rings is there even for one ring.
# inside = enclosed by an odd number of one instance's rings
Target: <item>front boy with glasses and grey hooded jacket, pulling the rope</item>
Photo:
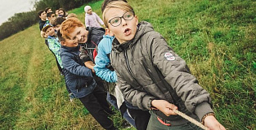
[[[147,129],[199,129],[177,115],[177,109],[211,130],[225,129],[214,117],[209,93],[198,85],[186,62],[149,23],[138,23],[132,6],[110,2],[103,21],[115,35],[110,61],[124,98],[150,110]]]

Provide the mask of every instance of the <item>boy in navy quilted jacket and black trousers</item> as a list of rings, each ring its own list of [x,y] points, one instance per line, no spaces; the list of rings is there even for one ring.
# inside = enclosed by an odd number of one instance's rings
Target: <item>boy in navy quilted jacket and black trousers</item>
[[[70,20],[65,20],[61,24],[61,30],[65,24],[70,24]],[[106,101],[106,92],[97,85],[92,76],[92,70],[79,58],[79,42],[75,39],[70,40],[65,37],[64,39],[65,41],[61,42],[61,61],[67,86],[102,128],[116,129],[113,121],[108,118],[108,115],[113,115],[113,111],[110,110]]]

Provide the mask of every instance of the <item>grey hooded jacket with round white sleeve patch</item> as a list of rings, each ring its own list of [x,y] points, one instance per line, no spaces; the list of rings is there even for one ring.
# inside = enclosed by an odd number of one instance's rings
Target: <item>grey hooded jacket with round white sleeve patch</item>
[[[205,114],[213,112],[209,93],[198,85],[186,62],[173,52],[164,37],[155,32],[147,22],[138,24],[137,33],[131,41],[119,44],[115,38],[110,61],[115,68],[124,98],[141,110],[150,110],[154,99],[173,103],[165,97],[170,92],[163,92],[150,78],[143,66],[144,61],[147,64],[153,63],[159,69],[169,87],[182,99],[186,107],[184,109],[190,111],[193,118],[193,115],[197,115],[202,119]],[[149,70],[155,72],[153,65]]]

